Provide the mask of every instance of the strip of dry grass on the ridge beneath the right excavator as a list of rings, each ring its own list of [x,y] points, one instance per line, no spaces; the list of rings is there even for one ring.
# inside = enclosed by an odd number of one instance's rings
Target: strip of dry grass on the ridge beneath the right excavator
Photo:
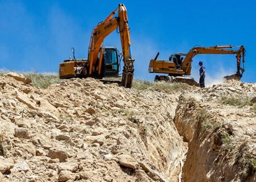
[[[133,81],[133,88],[137,90],[156,90],[160,92],[170,92],[173,90],[188,89],[189,85],[184,83],[150,82],[135,79]]]

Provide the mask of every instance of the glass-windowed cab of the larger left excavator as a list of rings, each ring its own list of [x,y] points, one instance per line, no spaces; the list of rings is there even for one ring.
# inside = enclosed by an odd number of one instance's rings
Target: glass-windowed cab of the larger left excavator
[[[103,65],[105,77],[118,77],[119,51],[116,47],[104,47]]]

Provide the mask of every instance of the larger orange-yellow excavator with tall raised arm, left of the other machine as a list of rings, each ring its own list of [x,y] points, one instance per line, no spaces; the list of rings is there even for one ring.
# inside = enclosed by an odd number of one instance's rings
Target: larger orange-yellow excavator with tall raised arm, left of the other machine
[[[114,16],[117,14],[118,16]],[[134,75],[134,59],[131,58],[131,41],[128,27],[127,10],[119,4],[103,22],[94,27],[88,49],[88,59],[76,59],[72,48],[73,59],[64,60],[59,67],[60,78],[73,77],[118,77],[120,54],[116,47],[102,47],[104,39],[117,30],[122,44],[123,73],[121,85],[131,88]]]

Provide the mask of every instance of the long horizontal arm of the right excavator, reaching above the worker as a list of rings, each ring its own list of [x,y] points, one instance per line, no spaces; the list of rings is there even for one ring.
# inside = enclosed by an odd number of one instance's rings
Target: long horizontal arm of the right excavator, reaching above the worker
[[[232,50],[231,48],[239,47],[238,50]],[[230,49],[228,49],[230,48]],[[245,63],[245,48],[243,46],[212,46],[212,47],[194,47],[192,48],[183,61],[184,75],[191,75],[191,63],[194,56],[199,54],[226,54],[236,55],[237,58],[237,76],[242,77],[245,71],[244,67],[241,68],[242,63]]]

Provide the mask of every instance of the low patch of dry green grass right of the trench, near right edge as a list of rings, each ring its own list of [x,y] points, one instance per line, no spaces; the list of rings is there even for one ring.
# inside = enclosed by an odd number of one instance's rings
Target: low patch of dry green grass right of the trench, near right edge
[[[230,105],[230,106],[239,106],[244,107],[246,105],[252,106],[253,103],[250,101],[249,97],[241,98],[241,97],[222,97],[222,104]]]

